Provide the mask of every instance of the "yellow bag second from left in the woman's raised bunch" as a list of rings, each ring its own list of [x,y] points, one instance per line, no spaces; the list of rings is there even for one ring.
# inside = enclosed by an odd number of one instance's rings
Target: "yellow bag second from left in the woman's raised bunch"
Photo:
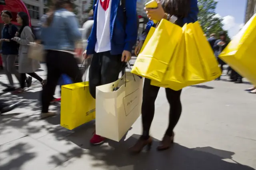
[[[187,24],[185,24],[182,28],[183,32],[186,29]],[[186,86],[184,81],[184,58],[186,55],[185,48],[185,36],[182,34],[182,38],[180,43],[178,43],[174,55],[168,65],[166,73],[164,75],[164,79],[162,82],[151,80],[151,85],[170,88],[173,90],[180,90]]]

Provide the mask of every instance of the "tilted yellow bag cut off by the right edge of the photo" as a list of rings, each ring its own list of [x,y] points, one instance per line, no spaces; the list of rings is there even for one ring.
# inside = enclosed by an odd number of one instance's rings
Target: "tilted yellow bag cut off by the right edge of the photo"
[[[220,58],[232,69],[256,84],[256,14],[246,23],[228,46],[220,53]]]

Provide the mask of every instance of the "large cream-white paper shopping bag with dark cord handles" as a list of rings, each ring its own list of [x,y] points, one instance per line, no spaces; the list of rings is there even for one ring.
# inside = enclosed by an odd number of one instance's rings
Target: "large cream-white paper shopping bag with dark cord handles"
[[[96,134],[115,141],[121,140],[141,113],[143,79],[130,72],[125,75],[96,87]],[[115,87],[120,88],[113,91]]]

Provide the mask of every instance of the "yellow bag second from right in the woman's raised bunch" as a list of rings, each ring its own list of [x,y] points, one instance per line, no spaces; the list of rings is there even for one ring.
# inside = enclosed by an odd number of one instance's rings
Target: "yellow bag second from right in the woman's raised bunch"
[[[184,78],[186,86],[203,83],[206,81],[206,75],[202,67],[202,59],[200,58],[200,53],[195,42],[192,23],[188,24],[186,27],[185,41],[186,58]]]

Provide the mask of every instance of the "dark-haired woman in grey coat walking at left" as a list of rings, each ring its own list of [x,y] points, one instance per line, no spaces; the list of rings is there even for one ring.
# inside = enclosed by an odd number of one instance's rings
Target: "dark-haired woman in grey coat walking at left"
[[[19,12],[17,14],[17,22],[21,24],[18,35],[12,38],[12,40],[16,41],[20,44],[19,48],[19,73],[20,73],[20,88],[16,89],[14,93],[23,93],[25,88],[26,74],[34,77],[44,86],[46,84],[46,80],[43,80],[39,77],[34,71],[40,68],[40,63],[37,60],[31,59],[28,57],[28,48],[30,42],[34,42],[34,35],[32,33],[31,28],[29,27],[29,19],[28,14],[25,12]]]

